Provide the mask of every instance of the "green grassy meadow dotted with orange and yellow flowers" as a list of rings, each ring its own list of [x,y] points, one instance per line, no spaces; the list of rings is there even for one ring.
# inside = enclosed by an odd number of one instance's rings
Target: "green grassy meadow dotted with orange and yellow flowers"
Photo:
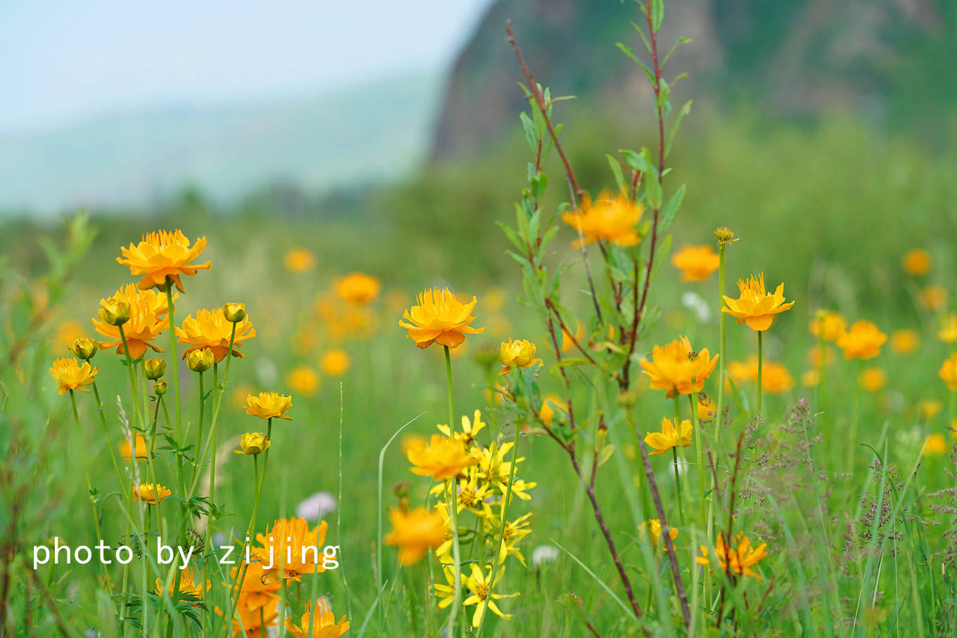
[[[661,133],[529,83],[403,184],[2,220],[0,631],[954,635],[957,156],[697,103],[672,145],[644,11]]]

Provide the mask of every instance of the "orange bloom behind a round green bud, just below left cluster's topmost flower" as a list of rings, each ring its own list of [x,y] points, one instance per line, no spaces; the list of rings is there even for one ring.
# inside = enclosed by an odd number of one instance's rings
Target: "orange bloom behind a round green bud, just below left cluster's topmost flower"
[[[174,295],[173,299],[176,297]],[[128,284],[114,293],[113,297],[100,299],[100,306],[103,308],[116,304],[126,304],[129,307],[129,320],[122,324],[121,336],[120,327],[103,320],[106,319],[103,314],[100,314],[100,319],[93,319],[93,327],[97,332],[113,340],[100,341],[100,348],[105,350],[116,346],[117,354],[122,355],[122,337],[125,337],[129,346],[129,358],[134,361],[143,357],[147,346],[156,352],[163,352],[152,341],[169,327],[166,295],[157,295],[156,291],[152,290],[138,290],[133,284]]]

